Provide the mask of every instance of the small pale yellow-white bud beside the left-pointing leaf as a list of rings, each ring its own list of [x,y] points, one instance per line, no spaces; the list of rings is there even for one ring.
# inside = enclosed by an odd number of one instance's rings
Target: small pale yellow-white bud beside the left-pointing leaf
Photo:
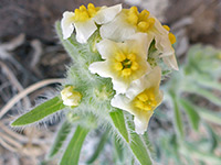
[[[73,86],[67,86],[61,91],[62,100],[65,106],[78,106],[82,99],[82,95],[78,91],[74,91]]]

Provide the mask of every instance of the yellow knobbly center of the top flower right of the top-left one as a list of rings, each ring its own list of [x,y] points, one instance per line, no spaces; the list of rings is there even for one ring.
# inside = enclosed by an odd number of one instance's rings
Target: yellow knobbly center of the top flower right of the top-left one
[[[137,7],[131,7],[127,13],[127,21],[137,26],[140,32],[147,32],[155,24],[155,19],[149,18],[149,11],[143,10],[140,13]]]

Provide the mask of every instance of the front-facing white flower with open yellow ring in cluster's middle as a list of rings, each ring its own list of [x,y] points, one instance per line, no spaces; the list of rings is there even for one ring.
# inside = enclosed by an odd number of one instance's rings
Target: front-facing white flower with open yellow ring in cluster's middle
[[[151,40],[145,33],[136,33],[124,43],[103,40],[97,50],[104,62],[90,65],[92,74],[110,77],[117,94],[124,94],[130,82],[150,72],[147,52]]]

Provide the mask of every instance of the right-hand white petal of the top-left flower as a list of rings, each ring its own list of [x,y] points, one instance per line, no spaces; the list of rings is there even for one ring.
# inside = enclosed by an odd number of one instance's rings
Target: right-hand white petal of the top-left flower
[[[122,11],[122,4],[116,4],[109,8],[102,8],[94,16],[97,24],[104,24],[112,21]]]

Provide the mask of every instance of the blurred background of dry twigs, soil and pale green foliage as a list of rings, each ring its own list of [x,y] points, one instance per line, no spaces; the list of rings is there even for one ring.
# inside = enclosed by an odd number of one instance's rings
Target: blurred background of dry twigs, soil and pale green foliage
[[[54,23],[64,11],[88,2],[137,6],[171,28],[180,72],[165,79],[166,101],[150,121],[154,158],[162,165],[220,165],[220,0],[0,0],[0,165],[43,164],[59,120],[25,130],[12,130],[9,123],[55,92],[71,58]],[[31,92],[18,95],[30,86]]]

